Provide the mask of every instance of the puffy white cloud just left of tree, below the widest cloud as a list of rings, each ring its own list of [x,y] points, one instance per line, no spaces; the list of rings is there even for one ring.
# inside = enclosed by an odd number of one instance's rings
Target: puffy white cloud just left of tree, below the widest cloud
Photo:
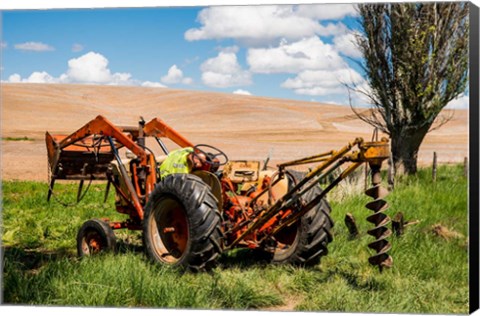
[[[298,73],[303,70],[336,69],[344,61],[333,46],[317,36],[275,48],[251,48],[247,53],[250,71],[255,73]]]

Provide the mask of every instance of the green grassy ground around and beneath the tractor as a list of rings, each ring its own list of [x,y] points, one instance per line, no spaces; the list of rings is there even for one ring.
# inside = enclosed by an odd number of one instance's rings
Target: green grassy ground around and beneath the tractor
[[[175,307],[394,313],[468,313],[467,180],[461,166],[442,166],[397,180],[388,213],[419,220],[390,238],[392,269],[368,264],[372,227],[357,185],[339,187],[331,205],[334,241],[320,265],[305,269],[263,264],[247,250],[226,253],[211,273],[182,274],[151,264],[138,232],[117,231],[119,250],[76,258],[75,237],[88,219],[123,219],[103,186],[92,186],[77,206],[46,202],[47,185],[3,182],[4,304],[47,306]],[[362,187],[362,186],[360,186]],[[61,191],[64,191],[61,194]],[[73,203],[75,185],[58,185]],[[68,200],[69,199],[69,200]],[[348,237],[347,212],[360,229]],[[440,226],[439,226],[440,225]]]

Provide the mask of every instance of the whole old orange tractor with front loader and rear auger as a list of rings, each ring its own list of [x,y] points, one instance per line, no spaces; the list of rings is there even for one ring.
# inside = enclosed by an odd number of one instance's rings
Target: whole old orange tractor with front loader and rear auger
[[[165,155],[156,156],[146,146],[151,137]],[[160,177],[169,154],[166,142],[192,147],[194,155],[207,158],[206,168]],[[368,233],[375,253],[369,258],[380,269],[392,258],[387,237],[391,235],[384,213],[388,193],[381,186],[380,168],[389,156],[386,139],[365,142],[355,139],[338,151],[267,167],[259,161],[229,160],[209,145],[194,146],[159,119],[138,126],[115,126],[98,116],[68,136],[46,133],[51,171],[48,199],[55,181],[106,181],[105,198],[115,189],[116,210],[127,215],[122,222],[93,219],[77,235],[80,256],[115,248],[114,230],[143,232],[144,248],[154,261],[192,271],[209,270],[222,252],[237,247],[256,249],[272,262],[314,265],[327,253],[333,221],[325,196],[363,163],[371,170],[373,197],[367,218],[375,225]],[[127,160],[120,151],[126,151]],[[315,164],[306,174],[291,166]],[[345,168],[341,166],[346,165]],[[340,172],[338,173],[338,170]],[[320,181],[334,178],[324,189]]]

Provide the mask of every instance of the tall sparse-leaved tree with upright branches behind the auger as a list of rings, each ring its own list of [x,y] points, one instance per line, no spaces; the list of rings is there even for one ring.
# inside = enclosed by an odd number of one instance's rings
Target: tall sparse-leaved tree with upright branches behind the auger
[[[359,4],[356,44],[369,85],[363,121],[391,138],[396,171],[417,171],[417,154],[441,110],[468,82],[468,3]],[[437,124],[435,123],[435,124]]]

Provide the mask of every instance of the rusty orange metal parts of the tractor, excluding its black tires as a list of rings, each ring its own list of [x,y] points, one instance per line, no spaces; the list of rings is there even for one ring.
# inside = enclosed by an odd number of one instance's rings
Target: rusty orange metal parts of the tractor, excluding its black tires
[[[68,136],[47,132],[46,145],[51,172],[49,197],[56,180],[80,180],[78,198],[84,180],[107,180],[104,199],[106,200],[112,185],[116,191],[117,211],[129,215],[124,222],[110,222],[110,227],[142,229],[144,207],[156,183],[160,181],[160,162],[157,163],[153,152],[145,147],[146,137],[155,138],[165,154],[168,154],[168,149],[160,138],[168,138],[180,147],[194,147],[160,119],[148,123],[141,119],[137,127],[118,127],[104,117],[97,116]],[[119,156],[122,147],[135,155],[129,158],[127,164]],[[366,194],[374,200],[367,204],[367,208],[375,212],[367,218],[375,225],[368,234],[376,238],[369,244],[376,251],[369,262],[380,269],[390,266],[392,259],[387,251],[391,245],[387,237],[391,231],[386,227],[390,219],[384,214],[388,204],[383,199],[388,191],[380,185],[380,168],[388,157],[388,140],[365,142],[362,138],[356,138],[338,151],[288,161],[277,165],[275,170],[265,170],[266,164],[260,170],[258,161],[238,160],[230,161],[222,170],[221,177],[210,173],[215,181],[206,181],[208,177],[200,177],[217,198],[223,220],[222,249],[265,249],[266,245],[272,243],[293,242],[295,235],[292,235],[291,227],[295,227],[305,214],[321,203],[331,190],[359,166],[368,164],[373,186],[366,190]],[[286,169],[304,164],[317,165],[298,181]],[[330,177],[332,174],[336,176]],[[326,178],[332,180],[322,192],[315,193],[308,203],[304,201],[307,193]],[[167,263],[177,262],[177,252],[183,252],[190,242],[185,215],[180,211],[171,215],[174,222],[161,223],[158,227],[159,232],[168,235],[164,244],[168,249],[162,254]]]

